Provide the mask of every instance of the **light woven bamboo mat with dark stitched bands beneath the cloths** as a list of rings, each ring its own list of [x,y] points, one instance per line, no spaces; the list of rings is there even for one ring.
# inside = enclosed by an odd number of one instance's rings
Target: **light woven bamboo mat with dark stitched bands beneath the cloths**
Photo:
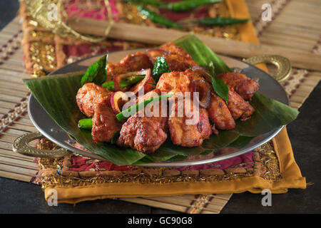
[[[320,53],[321,5],[319,0],[272,1],[248,0],[248,7],[261,43],[290,46],[302,53]],[[261,6],[270,3],[272,21],[261,21]],[[300,10],[299,10],[300,9]],[[0,177],[30,182],[38,167],[32,157],[12,152],[12,142],[19,135],[34,132],[26,113],[29,90],[22,78],[24,72],[21,48],[21,24],[16,18],[0,32]],[[282,83],[293,108],[302,103],[317,86],[321,72],[294,69],[290,78]],[[201,213],[219,213],[231,195],[185,195],[180,197],[126,198],[121,199],[151,207],[193,212],[195,206],[203,205]]]

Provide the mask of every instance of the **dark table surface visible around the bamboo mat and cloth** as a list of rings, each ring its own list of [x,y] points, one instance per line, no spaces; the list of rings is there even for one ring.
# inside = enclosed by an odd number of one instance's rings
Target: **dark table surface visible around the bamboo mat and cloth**
[[[0,0],[0,29],[19,9],[18,1]],[[0,76],[1,77],[1,76]],[[295,160],[302,176],[312,185],[306,190],[289,190],[272,195],[272,206],[263,207],[263,195],[233,194],[221,213],[320,213],[321,212],[321,82],[300,108],[297,120],[287,125]],[[0,213],[170,213],[114,199],[103,199],[49,207],[40,186],[0,177]]]

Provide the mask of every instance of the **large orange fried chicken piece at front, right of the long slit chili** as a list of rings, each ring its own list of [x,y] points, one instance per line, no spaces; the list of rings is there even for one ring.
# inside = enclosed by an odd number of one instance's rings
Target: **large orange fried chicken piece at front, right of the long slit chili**
[[[187,99],[190,98],[185,97],[184,101]],[[210,120],[208,120],[208,111],[205,108],[195,110],[193,101],[189,100],[189,102],[190,107],[188,108],[184,107],[184,105],[188,105],[186,102],[178,101],[172,105],[168,127],[173,144],[183,147],[196,147],[202,145],[203,140],[210,138],[212,129]],[[183,116],[180,116],[180,110],[183,110]]]

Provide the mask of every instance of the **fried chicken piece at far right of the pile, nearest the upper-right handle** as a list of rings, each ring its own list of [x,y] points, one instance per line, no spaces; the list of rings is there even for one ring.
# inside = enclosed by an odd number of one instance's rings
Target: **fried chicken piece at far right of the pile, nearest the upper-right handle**
[[[250,100],[258,91],[260,85],[243,73],[221,73],[218,78],[222,79],[228,86],[232,87],[244,100]]]

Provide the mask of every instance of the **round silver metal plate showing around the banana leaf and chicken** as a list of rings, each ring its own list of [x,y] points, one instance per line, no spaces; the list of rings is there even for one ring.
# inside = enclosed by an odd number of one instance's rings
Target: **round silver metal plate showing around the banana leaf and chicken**
[[[121,58],[128,55],[128,53],[136,53],[137,51],[145,52],[145,49],[136,49],[130,51],[116,51],[109,53],[108,61],[110,62],[119,62]],[[77,61],[75,63],[71,63],[69,65],[63,66],[62,68],[54,71],[51,74],[60,74],[60,73],[68,73],[73,71],[81,71],[86,70],[88,66],[91,65],[94,61],[97,61],[102,55],[93,56],[90,58],[85,58],[81,61]],[[229,58],[226,56],[220,56],[220,58],[225,61],[226,64],[230,68],[235,68],[236,71],[245,73],[250,78],[258,78],[260,82],[260,93],[263,93],[268,98],[272,98],[275,100],[280,101],[281,103],[285,103],[287,105],[290,104],[290,100],[287,97],[287,93],[285,90],[280,86],[274,78],[270,75],[261,71],[259,68],[252,66],[248,63],[238,61],[234,58]],[[49,115],[41,108],[41,105],[36,101],[33,95],[29,98],[29,105],[28,105],[28,113],[31,119],[31,122],[35,125],[35,127],[41,132],[46,138],[55,142],[57,145],[66,148],[67,150],[71,150],[72,152],[76,152],[80,155],[84,155],[86,157],[91,157],[98,160],[103,160],[101,157],[96,155],[94,152],[86,150],[85,147],[78,144],[71,139],[71,137],[62,130],[54,120],[52,120]],[[283,127],[282,127],[283,128]],[[268,142],[272,138],[277,135],[277,133],[282,130],[282,128],[277,128],[275,130],[270,131],[269,133],[265,133],[264,135],[260,135],[258,137],[253,138],[248,145],[242,148],[235,148],[235,147],[224,147],[220,150],[215,150],[210,152],[208,155],[195,155],[192,157],[188,157],[183,161],[178,162],[153,162],[148,163],[143,166],[148,167],[161,167],[161,166],[185,166],[185,165],[200,165],[209,162],[216,162],[220,160],[225,160],[230,157],[235,157],[238,155],[242,155],[245,152],[249,152],[260,145],[263,145],[265,142]],[[157,152],[157,151],[156,151]]]

